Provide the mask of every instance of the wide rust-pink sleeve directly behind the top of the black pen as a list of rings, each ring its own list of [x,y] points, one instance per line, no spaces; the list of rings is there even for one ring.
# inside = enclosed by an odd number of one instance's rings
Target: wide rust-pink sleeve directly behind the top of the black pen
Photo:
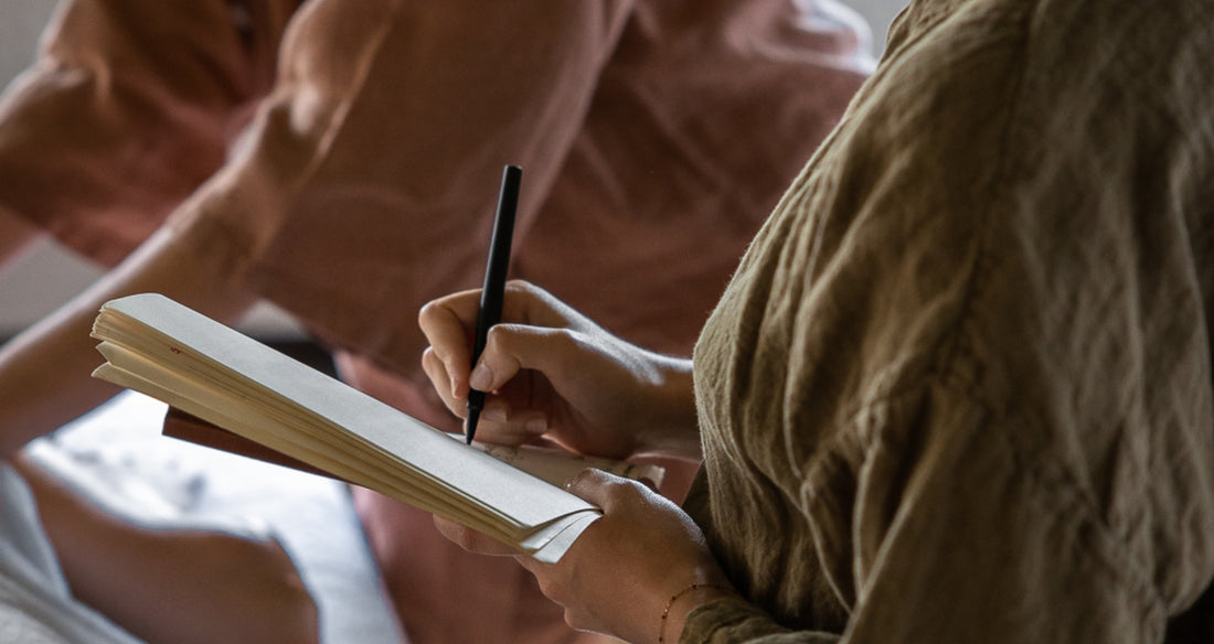
[[[238,155],[175,226],[221,229],[267,298],[415,371],[418,307],[478,283],[506,164],[526,234],[630,7],[310,2]]]

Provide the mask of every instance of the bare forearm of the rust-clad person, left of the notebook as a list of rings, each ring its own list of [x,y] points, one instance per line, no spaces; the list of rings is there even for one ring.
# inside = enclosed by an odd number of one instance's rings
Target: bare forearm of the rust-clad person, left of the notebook
[[[231,319],[253,303],[239,272],[203,240],[163,229],[126,262],[0,349],[0,449],[11,455],[118,393],[91,377],[101,364],[89,337],[101,306],[155,291]]]

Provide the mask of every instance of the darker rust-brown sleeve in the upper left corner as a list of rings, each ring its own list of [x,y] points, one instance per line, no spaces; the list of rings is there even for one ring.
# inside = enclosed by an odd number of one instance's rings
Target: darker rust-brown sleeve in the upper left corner
[[[64,2],[0,99],[0,209],[117,263],[223,163],[293,1]]]

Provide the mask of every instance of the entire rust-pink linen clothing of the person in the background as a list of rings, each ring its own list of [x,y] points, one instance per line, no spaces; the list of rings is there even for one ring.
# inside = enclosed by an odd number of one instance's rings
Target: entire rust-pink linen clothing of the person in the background
[[[826,1],[294,10],[67,2],[0,106],[0,213],[106,263],[168,216],[348,352],[351,382],[448,428],[416,312],[480,285],[503,165],[523,167],[512,274],[690,354],[870,70],[863,25]],[[357,501],[414,642],[574,637],[511,559],[466,554],[384,497]]]

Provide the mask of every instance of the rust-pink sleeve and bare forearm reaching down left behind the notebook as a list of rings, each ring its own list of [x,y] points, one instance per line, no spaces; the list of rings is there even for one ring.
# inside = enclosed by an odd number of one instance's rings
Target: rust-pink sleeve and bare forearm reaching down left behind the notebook
[[[242,283],[268,262],[273,266],[260,272],[259,292],[322,331],[331,330],[324,320],[334,310],[375,308],[374,329],[335,331],[350,348],[363,349],[363,336],[379,337],[397,324],[378,293],[401,295],[405,285],[398,275],[420,291],[432,287],[422,275],[463,275],[477,263],[470,260],[475,249],[447,243],[467,232],[469,213],[489,211],[470,196],[472,169],[493,167],[495,176],[501,150],[517,152],[531,177],[524,210],[534,213],[589,104],[595,78],[588,70],[602,64],[626,10],[626,2],[603,2],[601,12],[552,2],[551,15],[472,2],[442,11],[361,5],[350,12],[335,5],[310,4],[300,15],[283,45],[278,82],[243,144],[174,212],[177,223],[4,349],[0,433],[6,450],[113,393],[87,376],[96,364],[89,321],[102,302],[130,291],[161,291],[225,319],[251,302]],[[524,29],[523,19],[537,30]],[[583,42],[588,34],[595,38]],[[358,42],[354,53],[351,42]],[[436,50],[436,44],[442,46]],[[464,61],[463,74],[450,73],[452,51],[476,64]],[[424,101],[402,98],[402,74],[409,79],[408,96]],[[443,154],[431,154],[439,149]],[[420,170],[402,173],[402,167]],[[330,228],[337,206],[340,235]],[[386,232],[384,222],[399,222],[405,209],[416,226]],[[392,238],[402,230],[403,241]],[[225,243],[225,232],[237,239]],[[333,236],[340,236],[340,247],[325,245]],[[340,255],[348,249],[357,249],[358,261]],[[415,249],[442,250],[410,252]],[[333,283],[342,287],[331,289]],[[346,287],[352,283],[362,287]],[[357,306],[347,307],[346,296]],[[399,297],[410,317],[415,304],[409,302],[421,297]],[[399,326],[413,325],[399,320]],[[402,341],[413,342],[412,335]],[[420,338],[415,346],[420,352]],[[69,387],[61,392],[70,399],[66,404],[56,400],[56,381]]]

